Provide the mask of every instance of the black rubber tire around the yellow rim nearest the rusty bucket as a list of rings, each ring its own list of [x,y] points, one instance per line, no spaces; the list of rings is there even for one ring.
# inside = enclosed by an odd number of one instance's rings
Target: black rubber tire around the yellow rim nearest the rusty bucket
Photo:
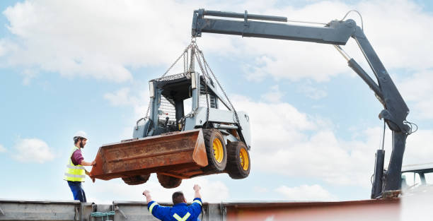
[[[206,146],[206,155],[208,165],[203,168],[204,172],[223,172],[227,165],[227,150],[224,138],[217,129],[203,130],[204,145]],[[214,157],[214,148],[212,147],[214,139],[219,139],[223,148],[223,159],[218,162]]]

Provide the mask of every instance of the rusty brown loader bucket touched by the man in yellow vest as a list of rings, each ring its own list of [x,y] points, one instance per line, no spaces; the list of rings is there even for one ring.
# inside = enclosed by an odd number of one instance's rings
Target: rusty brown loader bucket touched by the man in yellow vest
[[[187,179],[203,174],[205,166],[203,133],[196,129],[103,145],[90,177],[108,180],[158,173]]]

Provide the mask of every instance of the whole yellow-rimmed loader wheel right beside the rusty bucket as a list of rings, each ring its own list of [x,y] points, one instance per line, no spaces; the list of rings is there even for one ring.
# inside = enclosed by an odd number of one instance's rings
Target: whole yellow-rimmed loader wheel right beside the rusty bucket
[[[208,165],[204,172],[223,172],[227,165],[227,150],[224,138],[217,129],[203,130]]]

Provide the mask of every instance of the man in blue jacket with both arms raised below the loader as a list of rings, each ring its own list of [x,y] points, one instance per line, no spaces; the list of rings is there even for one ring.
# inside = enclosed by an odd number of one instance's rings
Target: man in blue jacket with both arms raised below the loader
[[[191,205],[186,204],[185,196],[178,191],[173,193],[173,207],[158,205],[152,201],[150,192],[145,190],[143,195],[146,196],[147,208],[151,215],[162,221],[195,221],[199,220],[198,216],[202,213],[202,196],[200,195],[200,186],[194,185],[194,201]]]

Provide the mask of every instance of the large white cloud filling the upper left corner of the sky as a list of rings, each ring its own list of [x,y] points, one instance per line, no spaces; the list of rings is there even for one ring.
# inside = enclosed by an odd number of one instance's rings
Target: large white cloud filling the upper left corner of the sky
[[[176,1],[24,1],[4,11],[13,37],[0,53],[11,66],[122,82],[132,79],[127,67],[171,62],[191,14]]]

